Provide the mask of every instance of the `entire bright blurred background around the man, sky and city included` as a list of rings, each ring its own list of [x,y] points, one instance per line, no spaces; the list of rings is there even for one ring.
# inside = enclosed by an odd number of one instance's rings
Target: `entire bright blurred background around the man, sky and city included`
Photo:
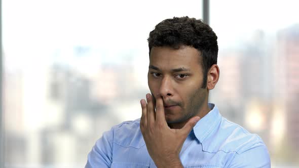
[[[104,131],[140,117],[147,37],[173,16],[218,36],[223,116],[272,167],[299,166],[298,1],[1,0],[0,167],[84,167]]]

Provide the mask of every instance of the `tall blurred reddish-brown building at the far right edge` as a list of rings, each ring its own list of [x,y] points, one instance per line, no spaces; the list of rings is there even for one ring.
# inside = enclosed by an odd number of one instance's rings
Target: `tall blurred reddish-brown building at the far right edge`
[[[285,105],[287,138],[293,152],[299,150],[299,24],[277,34],[276,86]],[[298,154],[299,152],[297,152]]]

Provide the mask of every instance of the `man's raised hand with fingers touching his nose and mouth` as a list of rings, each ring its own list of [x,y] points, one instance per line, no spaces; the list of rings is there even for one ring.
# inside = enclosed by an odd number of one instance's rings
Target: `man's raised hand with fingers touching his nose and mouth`
[[[182,167],[179,159],[180,150],[200,117],[189,119],[181,129],[170,129],[165,119],[162,97],[156,98],[156,112],[151,94],[147,94],[146,99],[147,104],[143,99],[140,101],[140,130],[149,156],[158,167]]]

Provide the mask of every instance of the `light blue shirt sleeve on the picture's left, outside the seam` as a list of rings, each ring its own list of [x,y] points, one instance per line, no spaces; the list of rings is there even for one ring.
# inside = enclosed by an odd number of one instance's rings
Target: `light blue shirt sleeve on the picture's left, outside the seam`
[[[88,154],[85,168],[110,167],[112,162],[113,130],[105,132]]]

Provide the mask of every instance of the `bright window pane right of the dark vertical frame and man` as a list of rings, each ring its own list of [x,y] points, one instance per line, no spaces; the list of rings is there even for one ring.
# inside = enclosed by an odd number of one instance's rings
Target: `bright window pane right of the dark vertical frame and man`
[[[210,1],[222,115],[257,133],[272,166],[298,166],[299,18],[296,1]]]

